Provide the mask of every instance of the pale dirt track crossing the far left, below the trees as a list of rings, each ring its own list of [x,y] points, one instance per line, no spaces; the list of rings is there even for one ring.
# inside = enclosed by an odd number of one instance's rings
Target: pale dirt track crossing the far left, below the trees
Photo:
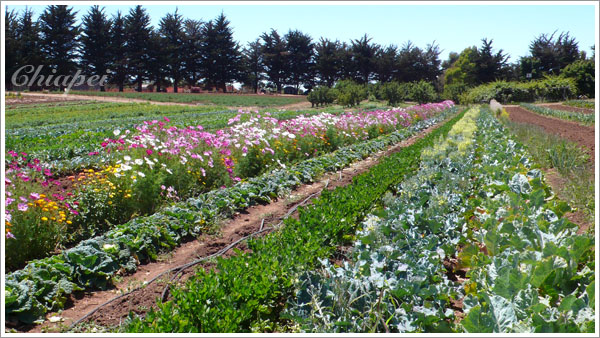
[[[197,106],[206,106],[207,104],[203,103],[182,103],[182,102],[160,102],[160,101],[150,101],[150,100],[142,100],[142,99],[132,99],[128,97],[115,97],[115,96],[92,96],[92,95],[75,95],[75,94],[44,94],[44,93],[21,93],[24,96],[24,99],[15,99],[14,103],[24,103],[28,99],[32,100],[33,98],[44,100],[43,102],[57,102],[57,101],[99,101],[99,102],[114,102],[114,103],[151,103],[160,106],[187,106],[187,107],[197,107]],[[28,103],[28,102],[27,102]],[[41,101],[37,101],[35,103],[42,103]],[[281,109],[309,109],[310,102],[303,101],[297,103],[291,103],[282,106],[274,106],[275,108]],[[264,107],[227,107],[232,110],[243,109],[243,110],[260,110],[264,109]]]

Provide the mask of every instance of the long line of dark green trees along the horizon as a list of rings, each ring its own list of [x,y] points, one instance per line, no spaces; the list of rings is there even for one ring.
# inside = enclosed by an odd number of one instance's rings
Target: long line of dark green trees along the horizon
[[[441,61],[434,42],[419,48],[379,45],[368,35],[349,43],[321,37],[313,40],[299,30],[280,34],[271,29],[242,46],[233,38],[230,22],[221,13],[203,22],[187,19],[175,10],[161,18],[158,27],[142,6],[109,17],[92,6],[77,24],[73,8],[50,5],[37,20],[33,12],[6,11],[6,86],[23,65],[44,65],[43,74],[69,75],[77,69],[88,75],[110,75],[110,83],[123,91],[126,85],[151,82],[157,91],[173,86],[227,90],[242,83],[258,92],[263,84],[276,92],[285,86],[310,91],[332,87],[340,80],[358,84],[429,82],[452,98],[468,88],[494,80],[537,79],[558,75],[574,62],[591,62],[569,33],[542,34],[530,45],[531,55],[508,63],[508,55],[494,51],[493,40],[452,52]],[[595,53],[595,52],[594,52]],[[587,65],[587,64],[586,64]],[[589,68],[589,65],[587,65]],[[105,90],[104,87],[100,88]]]

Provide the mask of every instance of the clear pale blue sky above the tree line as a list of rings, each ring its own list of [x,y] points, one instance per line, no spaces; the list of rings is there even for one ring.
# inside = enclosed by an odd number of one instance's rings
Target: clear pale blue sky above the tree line
[[[35,2],[33,2],[35,3]],[[127,13],[133,5],[105,5],[110,15],[121,10]],[[36,16],[45,6],[34,5]],[[73,6],[81,18],[88,5]],[[569,31],[579,42],[580,50],[591,55],[590,46],[597,40],[595,7],[585,5],[540,3],[534,5],[153,5],[144,7],[157,27],[165,13],[176,7],[186,18],[208,21],[223,11],[230,20],[234,38],[245,45],[271,28],[282,35],[298,29],[317,40],[320,37],[350,42],[367,33],[373,42],[401,46],[411,40],[424,48],[436,41],[442,49],[440,58],[451,51],[460,52],[469,46],[480,46],[482,38],[494,39],[496,50],[510,55],[509,62],[529,53],[530,42],[542,33]],[[7,6],[22,10],[25,6]]]

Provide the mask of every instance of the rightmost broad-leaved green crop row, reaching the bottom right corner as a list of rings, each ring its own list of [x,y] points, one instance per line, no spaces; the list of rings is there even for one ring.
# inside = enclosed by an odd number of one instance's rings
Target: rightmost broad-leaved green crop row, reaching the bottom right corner
[[[480,122],[486,177],[467,244],[461,322],[468,332],[594,332],[594,239],[578,235],[524,147],[489,114]],[[483,248],[483,249],[481,249]],[[483,251],[483,252],[482,252]]]

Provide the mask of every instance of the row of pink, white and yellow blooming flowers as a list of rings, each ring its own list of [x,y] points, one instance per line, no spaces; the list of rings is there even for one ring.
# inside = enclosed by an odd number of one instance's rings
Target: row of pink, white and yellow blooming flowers
[[[39,159],[8,151],[9,270],[105,232],[132,215],[148,215],[273,167],[287,166],[429,119],[451,102],[372,112],[320,113],[279,120],[240,112],[228,128],[177,126],[164,117],[101,142],[95,169],[56,177]],[[109,161],[107,156],[110,156]],[[44,231],[38,231],[42,227]],[[35,236],[32,232],[37,232]],[[27,250],[12,250],[26,246]]]

